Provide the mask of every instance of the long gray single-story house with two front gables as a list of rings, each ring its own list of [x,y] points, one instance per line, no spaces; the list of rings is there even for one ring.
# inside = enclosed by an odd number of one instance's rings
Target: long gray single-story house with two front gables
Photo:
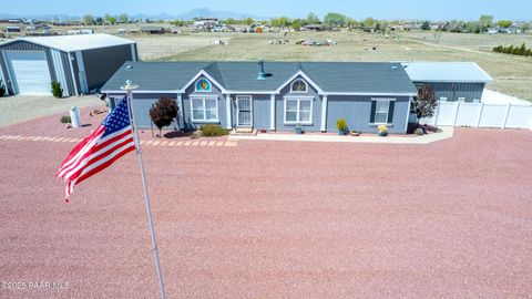
[[[416,86],[400,63],[389,62],[126,62],[102,92],[124,96],[126,80],[139,84],[133,113],[151,127],[150,107],[175,97],[183,130],[201,124],[308,132],[336,132],[345,117],[350,130],[378,125],[405,134]]]

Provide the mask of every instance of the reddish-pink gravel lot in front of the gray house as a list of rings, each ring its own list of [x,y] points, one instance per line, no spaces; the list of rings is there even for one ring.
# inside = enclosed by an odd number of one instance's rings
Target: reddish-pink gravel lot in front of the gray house
[[[0,135],[60,136],[55,118]],[[146,146],[168,298],[530,297],[531,143]],[[135,156],[65,204],[53,174],[72,146],[0,141],[0,282],[69,283],[0,298],[156,298]]]

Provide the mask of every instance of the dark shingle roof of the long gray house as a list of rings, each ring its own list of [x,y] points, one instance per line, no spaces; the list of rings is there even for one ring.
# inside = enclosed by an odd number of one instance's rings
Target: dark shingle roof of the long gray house
[[[401,64],[388,62],[266,62],[266,80],[257,80],[256,62],[126,62],[102,91],[125,80],[143,91],[177,91],[202,70],[233,92],[274,92],[303,71],[328,93],[417,93]]]

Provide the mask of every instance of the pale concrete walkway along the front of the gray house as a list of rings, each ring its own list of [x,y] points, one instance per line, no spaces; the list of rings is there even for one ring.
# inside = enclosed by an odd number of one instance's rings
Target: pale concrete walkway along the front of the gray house
[[[332,134],[307,133],[307,134],[290,134],[290,133],[266,133],[249,135],[229,135],[229,140],[246,140],[246,141],[291,141],[291,142],[345,142],[345,143],[390,143],[390,144],[429,144],[452,137],[453,127],[440,127],[441,132],[432,133],[423,136],[417,135],[362,135],[362,136],[338,136]]]

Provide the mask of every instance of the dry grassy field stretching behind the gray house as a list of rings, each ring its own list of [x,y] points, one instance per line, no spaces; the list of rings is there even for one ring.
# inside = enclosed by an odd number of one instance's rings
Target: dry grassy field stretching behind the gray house
[[[164,38],[150,38],[164,41]],[[208,43],[186,49],[194,40],[222,39],[226,45]],[[304,47],[301,39],[335,40],[337,45]],[[268,44],[270,40],[289,40],[289,44]],[[168,41],[168,40],[167,40]],[[153,40],[151,41],[154,42]],[[175,54],[157,60],[174,61],[474,61],[494,82],[489,89],[532,101],[532,59],[494,53],[499,44],[532,45],[530,34],[462,34],[462,33],[392,33],[381,35],[364,32],[289,32],[283,33],[195,33],[174,35],[180,44]],[[140,47],[143,41],[139,40]],[[197,42],[195,42],[197,44]],[[372,50],[376,48],[376,50]]]

